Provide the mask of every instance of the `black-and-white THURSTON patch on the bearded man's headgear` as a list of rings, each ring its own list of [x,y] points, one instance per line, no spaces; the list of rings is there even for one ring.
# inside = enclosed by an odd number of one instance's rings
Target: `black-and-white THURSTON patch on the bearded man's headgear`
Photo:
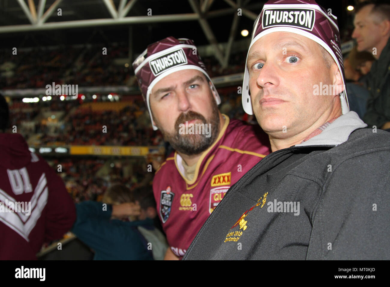
[[[169,52],[156,59],[149,61],[150,69],[154,76],[158,76],[165,70],[168,70],[175,66],[181,66],[188,64],[186,53],[183,49],[178,49],[173,52]]]

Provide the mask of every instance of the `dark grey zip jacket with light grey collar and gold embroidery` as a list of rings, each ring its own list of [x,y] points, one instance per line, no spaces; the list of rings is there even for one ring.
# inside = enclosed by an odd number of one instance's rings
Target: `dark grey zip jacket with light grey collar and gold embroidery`
[[[390,133],[355,112],[230,187],[191,259],[390,259]]]

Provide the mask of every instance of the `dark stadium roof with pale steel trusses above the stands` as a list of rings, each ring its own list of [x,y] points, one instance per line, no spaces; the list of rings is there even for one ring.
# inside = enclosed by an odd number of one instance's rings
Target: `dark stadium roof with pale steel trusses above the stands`
[[[349,0],[332,7],[337,16]],[[3,0],[0,47],[126,42],[133,54],[168,36],[211,44],[226,65],[231,43],[252,31],[266,1],[258,0]],[[346,7],[346,6],[345,6]],[[238,16],[238,8],[242,16]],[[60,13],[58,12],[60,10]],[[151,14],[151,16],[148,16]],[[222,51],[217,43],[228,43]],[[131,44],[131,45],[130,45]]]

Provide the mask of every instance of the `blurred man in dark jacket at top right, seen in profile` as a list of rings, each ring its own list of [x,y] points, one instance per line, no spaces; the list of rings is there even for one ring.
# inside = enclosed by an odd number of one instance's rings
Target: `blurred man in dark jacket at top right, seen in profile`
[[[371,66],[367,112],[363,120],[369,127],[390,131],[390,4],[365,1],[356,7],[355,30],[359,52],[373,53],[377,59]]]

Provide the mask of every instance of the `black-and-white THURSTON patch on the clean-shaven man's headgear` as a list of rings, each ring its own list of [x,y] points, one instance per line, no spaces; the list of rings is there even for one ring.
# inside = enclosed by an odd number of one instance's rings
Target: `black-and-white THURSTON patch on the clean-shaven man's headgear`
[[[314,9],[264,9],[262,17],[263,29],[287,25],[312,31],[315,22],[316,12]]]

